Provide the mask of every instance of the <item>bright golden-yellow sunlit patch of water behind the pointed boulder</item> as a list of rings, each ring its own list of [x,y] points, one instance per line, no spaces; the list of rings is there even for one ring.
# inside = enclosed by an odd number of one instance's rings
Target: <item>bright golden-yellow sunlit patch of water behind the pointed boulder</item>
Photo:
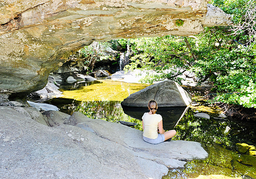
[[[84,86],[80,90],[61,90],[62,98],[75,99],[77,101],[123,101],[130,94],[146,88],[149,85],[125,83],[113,80],[97,80],[97,83]]]

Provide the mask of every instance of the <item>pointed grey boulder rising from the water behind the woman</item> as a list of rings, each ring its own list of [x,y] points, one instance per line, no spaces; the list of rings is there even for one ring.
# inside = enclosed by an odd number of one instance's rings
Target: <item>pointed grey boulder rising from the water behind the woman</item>
[[[176,82],[167,80],[150,85],[131,94],[121,103],[124,106],[147,107],[149,100],[154,99],[159,107],[188,106],[191,96]]]

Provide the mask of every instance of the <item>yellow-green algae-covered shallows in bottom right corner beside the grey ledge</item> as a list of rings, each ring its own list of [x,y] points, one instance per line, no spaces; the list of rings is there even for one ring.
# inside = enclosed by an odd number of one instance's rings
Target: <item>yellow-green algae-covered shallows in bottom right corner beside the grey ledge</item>
[[[217,145],[208,147],[206,160],[189,161],[184,169],[170,169],[162,179],[171,178],[254,178],[256,157],[238,154]],[[238,162],[241,159],[244,161]],[[239,160],[240,161],[240,160]],[[211,176],[211,177],[210,177]]]

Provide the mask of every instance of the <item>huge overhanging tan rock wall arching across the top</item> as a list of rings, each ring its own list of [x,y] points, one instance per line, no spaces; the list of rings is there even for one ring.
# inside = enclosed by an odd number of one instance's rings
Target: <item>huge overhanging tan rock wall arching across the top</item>
[[[208,0],[6,0],[0,2],[0,96],[27,95],[93,41],[194,35],[231,16]],[[216,8],[216,7],[214,7]],[[208,12],[210,12],[208,14]],[[216,14],[216,13],[218,14]],[[183,26],[175,21],[182,19]]]

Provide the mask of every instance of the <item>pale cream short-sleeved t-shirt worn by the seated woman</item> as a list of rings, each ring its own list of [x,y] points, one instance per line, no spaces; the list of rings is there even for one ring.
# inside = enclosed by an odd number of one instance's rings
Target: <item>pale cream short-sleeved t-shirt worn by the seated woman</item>
[[[160,114],[144,113],[142,120],[144,123],[143,136],[150,139],[156,139],[158,137],[158,123],[162,120],[162,116]]]

